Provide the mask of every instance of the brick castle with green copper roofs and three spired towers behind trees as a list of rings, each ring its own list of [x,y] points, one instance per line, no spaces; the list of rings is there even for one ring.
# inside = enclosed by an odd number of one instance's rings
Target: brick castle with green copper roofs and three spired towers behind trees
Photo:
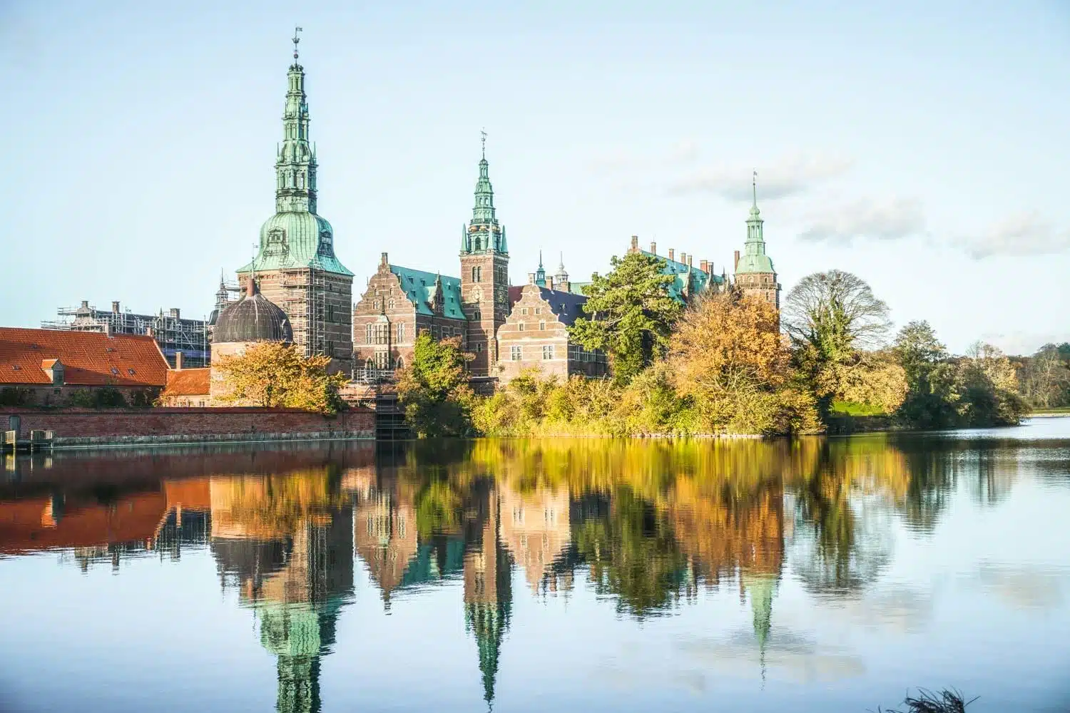
[[[281,308],[292,342],[306,355],[331,356],[334,370],[364,382],[389,378],[394,370],[411,363],[421,332],[459,339],[472,355],[469,369],[480,392],[532,367],[562,377],[606,374],[606,355],[583,348],[568,332],[583,314],[583,288],[590,283],[569,281],[564,261],[555,275],[547,276],[540,258],[526,283],[510,284],[508,241],[494,208],[485,133],[472,217],[461,229],[459,276],[401,266],[383,252],[353,304],[353,273],[338,261],[331,223],[317,213],[316,151],[308,136],[297,42],[295,35],[284,141],[275,161],[275,215],[260,228],[256,258],[236,270],[243,283],[251,278],[260,295]],[[734,285],[780,307],[780,283],[765,249],[756,187],[745,249],[735,252],[731,281],[724,268],[715,273],[712,261],[700,260],[696,266],[693,255],[681,252],[677,259],[672,249],[668,257],[659,255],[653,243],[648,251],[642,250],[637,236],[627,251],[660,258],[662,272],[675,277],[670,292],[682,301]],[[220,294],[225,299],[223,288]],[[217,303],[217,309],[224,305]]]

